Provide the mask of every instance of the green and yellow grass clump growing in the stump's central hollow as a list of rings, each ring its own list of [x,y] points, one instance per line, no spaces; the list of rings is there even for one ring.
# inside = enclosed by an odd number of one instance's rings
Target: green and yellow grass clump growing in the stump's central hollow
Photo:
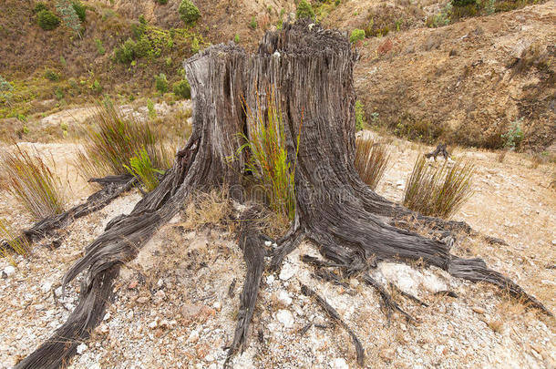
[[[239,149],[249,150],[247,169],[263,184],[270,207],[280,216],[293,220],[295,215],[294,165],[288,160],[282,111],[274,103],[275,93],[267,94],[267,114],[246,107],[250,121],[249,137],[241,134],[246,141]],[[260,104],[257,104],[260,106]],[[301,126],[301,122],[300,122]],[[301,130],[301,127],[300,127]],[[299,149],[299,137],[297,137]],[[295,152],[297,157],[297,152]]]

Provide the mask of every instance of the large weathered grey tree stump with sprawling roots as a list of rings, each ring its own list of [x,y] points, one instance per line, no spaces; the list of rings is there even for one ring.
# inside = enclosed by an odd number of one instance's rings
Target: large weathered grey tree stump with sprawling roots
[[[387,314],[398,311],[411,319],[368,275],[376,261],[421,260],[455,277],[494,283],[549,313],[541,302],[490,270],[484,261],[451,254],[452,242],[391,225],[413,217],[448,236],[452,231],[470,231],[462,223],[413,213],[377,195],[359,179],[353,163],[356,59],[345,34],[300,21],[267,33],[253,55],[230,44],[211,46],[187,60],[184,67],[194,107],[190,139],[160,186],[139,201],[128,216],[112,220],[106,231],[87,246],[85,256],[69,269],[64,284],[80,272],[86,273],[77,308],[16,368],[57,368],[65,363],[75,354],[77,344],[102,320],[119,267],[137,255],[153,233],[184,206],[190,194],[224,183],[237,188],[234,186],[241,183],[246,155],[245,151],[237,154],[242,145],[238,133],[249,132],[242,104],[263,111],[266,98],[262,97],[269,88],[276,91],[275,104],[283,113],[289,158],[297,160],[295,219],[273,250],[274,270],[301,241],[308,240],[318,245],[327,260],[314,262],[323,268],[340,268],[345,275],[358,276],[375,288]],[[229,158],[234,156],[231,162]],[[248,213],[244,220],[252,217]],[[240,240],[248,268],[229,355],[246,343],[264,267],[263,234],[250,226],[240,227]],[[306,288],[304,292],[318,296]],[[317,302],[351,333],[324,299],[319,297]],[[358,361],[363,363],[360,343],[355,334],[352,338]]]

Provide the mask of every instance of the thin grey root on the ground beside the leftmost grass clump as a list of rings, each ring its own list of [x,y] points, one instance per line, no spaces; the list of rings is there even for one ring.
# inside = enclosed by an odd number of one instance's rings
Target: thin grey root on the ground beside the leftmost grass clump
[[[91,179],[90,181],[101,184],[103,187],[102,190],[93,193],[88,197],[87,201],[70,210],[36,222],[33,227],[22,231],[22,234],[18,237],[19,243],[24,240],[29,243],[40,241],[52,235],[55,231],[67,227],[74,220],[84,217],[94,211],[101,210],[112,202],[112,200],[115,200],[122,193],[131,189],[137,182],[137,179],[131,176],[109,176],[103,179]],[[1,241],[0,247],[5,250],[10,248],[9,243],[5,240]]]

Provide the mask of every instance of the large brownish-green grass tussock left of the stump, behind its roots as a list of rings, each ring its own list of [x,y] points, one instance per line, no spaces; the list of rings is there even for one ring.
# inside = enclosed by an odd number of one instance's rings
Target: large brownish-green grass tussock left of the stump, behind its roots
[[[168,169],[173,154],[160,131],[147,121],[124,115],[111,104],[96,108],[94,127],[86,132],[84,150],[77,154],[79,168],[86,178],[128,173],[130,160],[145,150],[154,169]]]

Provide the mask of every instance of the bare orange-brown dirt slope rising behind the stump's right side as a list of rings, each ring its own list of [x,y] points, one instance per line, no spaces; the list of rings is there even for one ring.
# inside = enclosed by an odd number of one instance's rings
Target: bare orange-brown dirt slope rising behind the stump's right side
[[[487,148],[522,118],[524,146],[546,149],[556,138],[555,24],[551,1],[368,39],[355,70],[367,118],[411,138]]]

